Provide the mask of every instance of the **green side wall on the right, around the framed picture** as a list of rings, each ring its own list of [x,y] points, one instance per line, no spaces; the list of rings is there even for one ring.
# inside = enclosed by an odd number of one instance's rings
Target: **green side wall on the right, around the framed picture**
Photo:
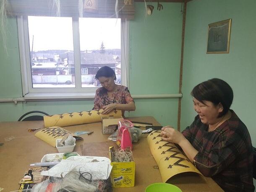
[[[193,0],[187,4],[181,126],[193,121],[190,92],[210,78],[221,78],[234,91],[231,106],[246,124],[256,146],[256,1]],[[208,24],[232,19],[229,54],[206,54]]]

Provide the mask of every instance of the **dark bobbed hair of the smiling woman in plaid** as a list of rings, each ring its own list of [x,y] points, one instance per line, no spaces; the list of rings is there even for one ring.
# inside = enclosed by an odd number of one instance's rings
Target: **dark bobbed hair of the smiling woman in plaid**
[[[204,101],[211,101],[215,106],[221,103],[223,111],[218,117],[227,114],[233,101],[232,88],[227,82],[218,78],[199,83],[193,88],[191,95],[203,104]]]

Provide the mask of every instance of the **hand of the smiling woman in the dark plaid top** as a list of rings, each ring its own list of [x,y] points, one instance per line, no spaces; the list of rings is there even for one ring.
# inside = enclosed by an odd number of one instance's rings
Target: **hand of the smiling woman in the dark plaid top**
[[[186,140],[186,138],[184,137],[184,135],[182,135],[181,132],[175,130],[169,125],[162,127],[162,132],[160,133],[160,135],[162,136],[162,140],[177,143],[179,145],[182,141]]]

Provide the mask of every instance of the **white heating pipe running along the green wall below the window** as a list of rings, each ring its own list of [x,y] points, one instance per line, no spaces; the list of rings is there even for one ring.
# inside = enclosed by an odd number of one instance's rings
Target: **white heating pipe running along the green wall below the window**
[[[178,94],[148,94],[148,95],[133,95],[133,99],[160,99],[160,98],[180,98],[182,97],[182,93]],[[60,97],[59,97],[60,98]],[[62,96],[61,99],[58,99],[58,97],[52,97],[52,99],[45,99],[45,98],[29,98],[26,99],[24,97],[17,97],[17,98],[0,98],[0,103],[10,103],[13,102],[17,104],[18,102],[29,102],[29,101],[61,101],[61,100],[84,100],[84,99],[90,99],[93,100],[94,96]]]

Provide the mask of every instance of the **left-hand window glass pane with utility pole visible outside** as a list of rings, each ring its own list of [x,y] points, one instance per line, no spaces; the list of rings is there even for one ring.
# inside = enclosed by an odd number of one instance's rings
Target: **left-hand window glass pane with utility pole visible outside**
[[[74,88],[72,18],[29,16],[33,88]]]

